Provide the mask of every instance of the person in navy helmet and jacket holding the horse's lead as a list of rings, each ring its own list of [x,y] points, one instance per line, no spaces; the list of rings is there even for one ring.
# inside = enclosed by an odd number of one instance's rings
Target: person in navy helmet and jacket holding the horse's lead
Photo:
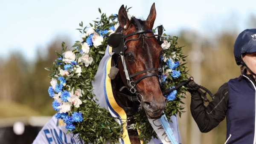
[[[238,35],[234,56],[241,75],[220,86],[207,106],[195,81],[186,85],[191,114],[201,132],[209,132],[226,117],[225,144],[256,144],[256,29]]]

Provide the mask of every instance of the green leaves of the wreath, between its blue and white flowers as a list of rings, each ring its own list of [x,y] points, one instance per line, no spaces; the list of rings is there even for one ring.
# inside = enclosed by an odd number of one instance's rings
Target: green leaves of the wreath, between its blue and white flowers
[[[125,7],[125,9],[128,10],[130,8]],[[79,26],[81,26],[81,28],[78,30],[83,35],[85,35],[82,37],[83,43],[81,41],[76,41],[72,46],[72,49],[67,50],[67,47],[65,47],[65,43],[63,42],[61,45],[62,54],[56,52],[58,58],[54,61],[51,68],[47,67],[45,69],[50,72],[50,78],[55,79],[56,81],[58,77],[63,77],[65,79],[66,83],[63,85],[62,91],[67,90],[71,93],[75,92],[76,89],[81,89],[82,91],[83,96],[79,97],[81,100],[81,104],[79,105],[79,107],[76,107],[72,103],[70,110],[67,110],[67,112],[65,111],[69,116],[72,116],[73,112],[82,113],[82,121],[73,122],[75,129],[69,131],[73,132],[74,134],[78,134],[79,137],[84,141],[84,143],[105,144],[106,141],[109,141],[112,144],[119,143],[119,138],[122,137],[122,126],[115,121],[115,118],[113,118],[106,109],[99,107],[99,105],[96,104],[95,99],[97,97],[92,93],[93,86],[91,82],[94,80],[94,76],[96,75],[99,62],[104,56],[106,47],[108,45],[107,39],[108,35],[110,34],[110,31],[108,30],[111,28],[111,26],[115,26],[115,24],[117,24],[118,22],[115,20],[116,15],[111,15],[107,17],[105,13],[101,12],[101,9],[99,9],[99,13],[101,14],[101,17],[97,18],[97,20],[94,20],[94,24],[90,23],[90,26],[94,29],[93,34],[89,33],[89,30],[86,31],[87,27],[83,27],[83,22],[79,23]],[[104,31],[108,32],[101,33]],[[90,38],[92,35],[101,35],[101,37],[103,37],[101,44],[95,45],[95,43],[93,42],[92,45],[90,45],[89,51],[84,52],[83,44],[85,42],[87,43],[87,39]],[[185,63],[182,63],[183,61],[185,61],[184,58],[186,58],[186,56],[184,56],[182,53],[182,47],[176,46],[177,37],[170,37],[166,34],[163,35],[164,40],[166,40],[166,42],[170,44],[168,48],[163,50],[163,58],[172,59],[173,62],[180,61],[180,65],[175,68],[175,70],[180,71],[180,77],[172,78],[172,72],[165,73],[166,75],[168,75],[168,78],[166,79],[166,82],[163,84],[161,89],[169,89],[169,87],[178,85],[180,81],[186,80],[188,74],[184,65]],[[77,62],[77,65],[73,65],[72,69],[66,69],[67,74],[62,75],[61,70],[65,69],[64,66],[69,63],[64,60],[66,57],[63,55],[63,53],[65,54],[66,52],[71,52],[71,54],[75,55],[74,60]],[[92,61],[89,64],[87,63],[86,65],[86,62],[80,60],[81,58],[92,58]],[[166,67],[166,61],[163,62],[163,66],[165,66],[163,67],[163,69],[168,69],[168,67]],[[79,68],[81,68],[81,73],[77,73],[77,71],[79,71]],[[61,81],[58,80],[57,84],[60,85]],[[181,114],[181,110],[183,108],[180,106],[180,103],[183,103],[181,101],[181,98],[184,98],[183,95],[185,94],[185,92],[185,88],[179,89],[177,91],[175,100],[168,102],[165,109],[165,114],[168,118],[171,115],[175,115],[177,113],[179,113],[179,115]],[[55,100],[58,100],[58,98],[55,98]],[[64,103],[64,101],[61,100],[59,100],[59,102],[61,104]],[[139,138],[144,141],[144,144],[148,143],[151,140],[152,136],[157,136],[152,129],[151,124],[149,124],[148,118],[144,111],[140,111],[136,115],[134,115],[134,119],[136,121],[136,124],[134,124],[134,129],[140,130]]]

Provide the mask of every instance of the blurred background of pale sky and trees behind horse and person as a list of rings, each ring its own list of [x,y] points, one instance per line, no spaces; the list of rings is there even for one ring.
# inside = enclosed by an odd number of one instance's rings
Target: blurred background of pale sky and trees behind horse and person
[[[90,26],[100,17],[117,14],[120,6],[146,19],[152,3],[165,33],[178,36],[188,55],[189,73],[198,84],[215,93],[230,78],[240,75],[233,43],[247,28],[255,28],[253,0],[2,0],[0,1],[0,143],[29,144],[55,114],[47,89],[50,78],[44,67],[52,65],[61,42],[71,47],[81,34],[83,21]],[[190,114],[190,95],[183,99],[179,118],[183,144],[223,144],[226,120],[211,132],[201,133]]]

